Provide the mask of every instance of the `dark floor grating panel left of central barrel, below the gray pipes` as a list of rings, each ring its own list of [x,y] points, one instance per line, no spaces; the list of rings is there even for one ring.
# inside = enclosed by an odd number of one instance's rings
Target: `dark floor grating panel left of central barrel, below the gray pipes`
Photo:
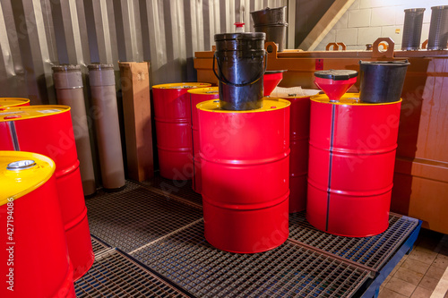
[[[139,184],[86,200],[90,233],[129,252],[202,218],[202,210],[167,200]]]

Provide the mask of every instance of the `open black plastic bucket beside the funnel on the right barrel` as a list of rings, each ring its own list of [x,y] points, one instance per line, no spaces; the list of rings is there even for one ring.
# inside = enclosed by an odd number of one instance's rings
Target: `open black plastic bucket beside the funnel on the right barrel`
[[[408,60],[359,61],[359,99],[369,103],[400,100]]]

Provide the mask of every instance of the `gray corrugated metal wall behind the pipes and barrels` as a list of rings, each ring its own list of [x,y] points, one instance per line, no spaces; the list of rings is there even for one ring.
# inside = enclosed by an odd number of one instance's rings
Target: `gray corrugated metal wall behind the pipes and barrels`
[[[1,0],[0,97],[56,103],[54,64],[118,71],[118,60],[144,60],[151,84],[194,81],[194,52],[210,50],[215,33],[233,31],[241,15],[250,31],[251,11],[288,3],[291,17],[294,0]]]

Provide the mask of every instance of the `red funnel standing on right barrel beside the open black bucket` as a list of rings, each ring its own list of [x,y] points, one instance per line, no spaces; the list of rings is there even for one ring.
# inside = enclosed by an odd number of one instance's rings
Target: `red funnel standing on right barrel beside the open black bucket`
[[[323,90],[332,101],[340,97],[357,82],[358,72],[349,70],[328,70],[314,72],[314,84]]]

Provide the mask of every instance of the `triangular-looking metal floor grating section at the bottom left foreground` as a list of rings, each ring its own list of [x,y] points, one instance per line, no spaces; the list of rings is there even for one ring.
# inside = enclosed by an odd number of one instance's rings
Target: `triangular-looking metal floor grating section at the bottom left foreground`
[[[76,297],[186,297],[120,251],[102,253],[74,283]]]

